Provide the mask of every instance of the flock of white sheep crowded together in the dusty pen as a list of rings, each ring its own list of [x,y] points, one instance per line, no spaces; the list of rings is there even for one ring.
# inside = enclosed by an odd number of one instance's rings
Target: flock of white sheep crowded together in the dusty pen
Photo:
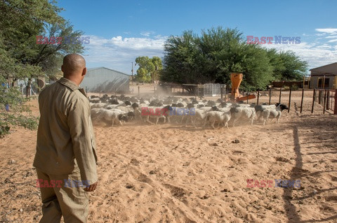
[[[234,127],[238,121],[249,122],[253,124],[254,120],[263,121],[263,125],[267,120],[279,118],[282,110],[288,109],[282,103],[275,105],[256,105],[244,103],[226,103],[218,99],[217,101],[197,101],[190,98],[183,99],[168,96],[165,99],[156,99],[154,97],[136,97],[136,96],[107,96],[106,94],[99,98],[91,96],[91,119],[94,123],[104,122],[114,125],[119,122],[120,125],[128,121],[147,122],[157,124],[160,119],[164,122],[178,122],[206,127],[211,124],[218,124],[217,128],[222,124],[228,128],[228,122],[232,120]],[[153,122],[155,120],[155,122]]]

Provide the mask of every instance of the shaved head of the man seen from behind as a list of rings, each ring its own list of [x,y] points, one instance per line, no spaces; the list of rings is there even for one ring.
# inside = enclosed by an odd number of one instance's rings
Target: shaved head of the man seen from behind
[[[63,77],[79,84],[86,74],[86,60],[76,53],[67,55],[63,58],[62,72]]]

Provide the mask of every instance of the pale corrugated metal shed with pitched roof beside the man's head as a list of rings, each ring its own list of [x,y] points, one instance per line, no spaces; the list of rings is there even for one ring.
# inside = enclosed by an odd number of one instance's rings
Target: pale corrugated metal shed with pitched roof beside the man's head
[[[107,69],[106,67],[98,67],[88,69],[84,80],[81,82],[87,92],[129,92],[130,75]]]

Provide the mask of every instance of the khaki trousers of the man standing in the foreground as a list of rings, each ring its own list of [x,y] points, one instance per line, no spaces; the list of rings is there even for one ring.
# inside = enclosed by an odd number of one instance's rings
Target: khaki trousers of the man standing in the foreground
[[[40,223],[60,223],[62,215],[65,223],[86,223],[89,203],[88,192],[84,191],[84,187],[67,185],[65,187],[65,180],[81,180],[79,171],[65,175],[48,175],[37,169],[37,177],[40,180],[48,180],[48,182],[59,180],[58,184],[52,187],[40,187],[43,204],[43,216]]]

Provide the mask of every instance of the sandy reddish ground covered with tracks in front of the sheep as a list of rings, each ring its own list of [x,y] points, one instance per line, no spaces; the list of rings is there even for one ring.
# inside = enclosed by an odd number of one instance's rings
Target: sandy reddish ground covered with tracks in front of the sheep
[[[337,116],[317,104],[310,114],[311,94],[300,114],[293,92],[290,113],[265,127],[95,126],[100,185],[88,222],[337,222]],[[36,136],[15,129],[0,139],[0,222],[41,217]],[[247,179],[300,180],[300,188],[250,188]]]

